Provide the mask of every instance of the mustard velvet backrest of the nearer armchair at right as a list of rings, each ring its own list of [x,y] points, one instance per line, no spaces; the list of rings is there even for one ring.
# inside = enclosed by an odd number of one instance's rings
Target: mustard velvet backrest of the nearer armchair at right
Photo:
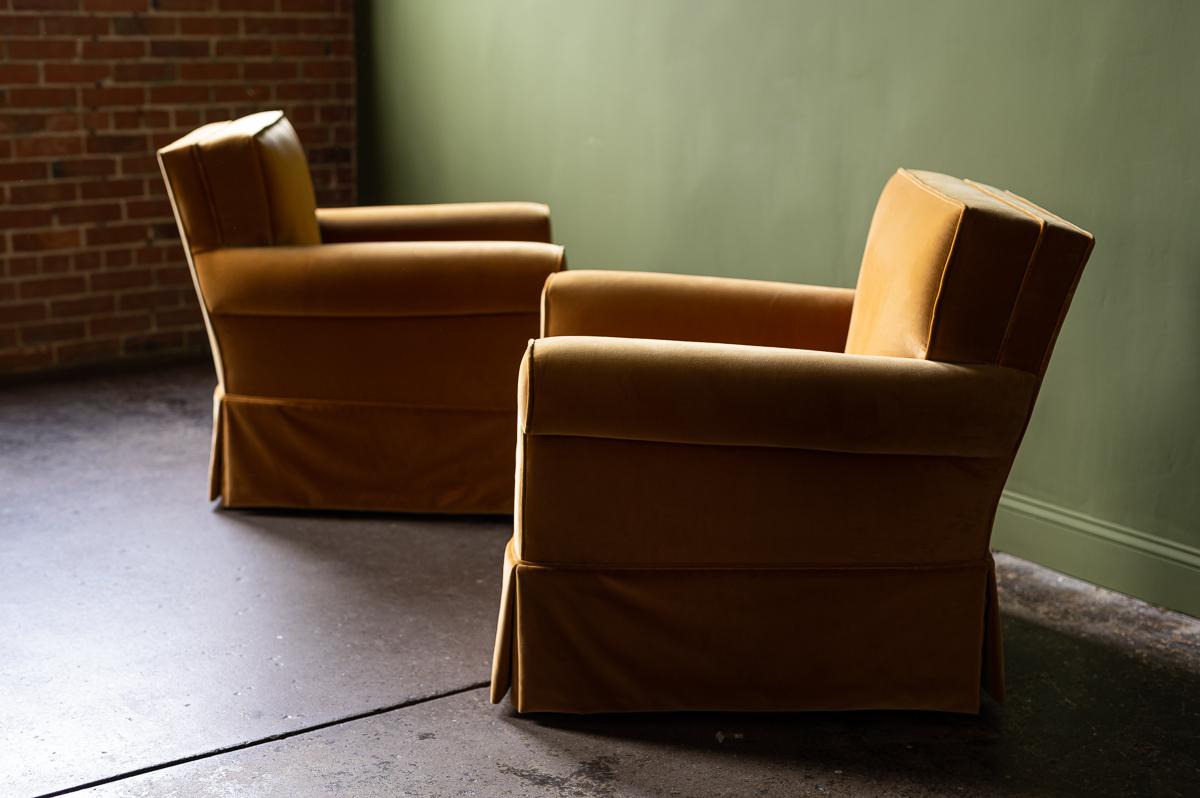
[[[1040,374],[1092,245],[1009,192],[900,169],[871,220],[846,352]]]

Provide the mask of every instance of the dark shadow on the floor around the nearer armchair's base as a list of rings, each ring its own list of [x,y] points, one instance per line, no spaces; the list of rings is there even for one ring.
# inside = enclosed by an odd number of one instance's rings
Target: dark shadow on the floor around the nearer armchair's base
[[[703,751],[718,762],[752,760],[774,776],[773,782],[784,776],[793,788],[804,778],[841,772],[883,785],[886,794],[893,788],[894,794],[1072,798],[1200,794],[1200,672],[1144,661],[1021,618],[1006,617],[1004,631],[1008,698],[1003,704],[985,700],[977,716],[920,712],[517,716],[508,708],[500,719],[548,746],[583,736],[648,744],[668,755]],[[616,794],[638,790],[653,794],[654,785],[629,782],[654,779],[653,774],[626,776],[635,769],[608,769],[620,772]]]

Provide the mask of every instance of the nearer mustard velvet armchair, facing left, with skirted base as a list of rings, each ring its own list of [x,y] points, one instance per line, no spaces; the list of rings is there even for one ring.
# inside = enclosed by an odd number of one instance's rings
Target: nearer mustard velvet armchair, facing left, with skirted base
[[[1091,250],[1020,197],[900,170],[856,290],[553,275],[492,700],[1000,700],[992,516]]]

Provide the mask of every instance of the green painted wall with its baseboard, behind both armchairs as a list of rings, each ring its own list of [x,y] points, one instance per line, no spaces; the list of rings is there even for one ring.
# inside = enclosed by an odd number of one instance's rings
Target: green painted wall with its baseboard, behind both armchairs
[[[1092,230],[996,542],[1200,614],[1200,2],[364,5],[362,200],[548,202],[574,268],[852,286],[898,166]]]

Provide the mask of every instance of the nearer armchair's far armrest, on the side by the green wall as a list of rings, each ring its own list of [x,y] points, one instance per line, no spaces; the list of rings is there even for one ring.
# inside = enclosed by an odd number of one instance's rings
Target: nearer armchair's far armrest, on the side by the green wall
[[[853,305],[850,288],[569,271],[546,283],[541,332],[841,352]]]

